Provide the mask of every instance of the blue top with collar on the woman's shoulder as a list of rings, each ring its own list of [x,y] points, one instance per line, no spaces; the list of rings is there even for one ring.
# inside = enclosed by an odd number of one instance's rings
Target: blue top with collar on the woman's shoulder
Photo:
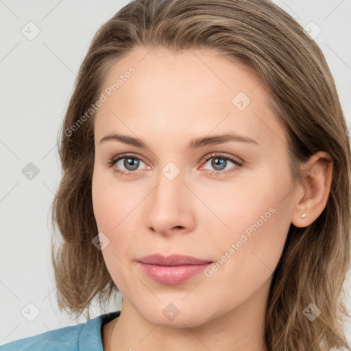
[[[102,327],[119,317],[121,311],[104,313],[85,323],[66,326],[0,346],[0,351],[104,351]]]

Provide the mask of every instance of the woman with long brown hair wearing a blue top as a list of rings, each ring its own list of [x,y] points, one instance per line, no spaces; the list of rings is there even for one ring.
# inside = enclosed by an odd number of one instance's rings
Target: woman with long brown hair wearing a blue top
[[[59,306],[120,291],[121,311],[0,350],[350,349],[347,125],[278,6],[132,1],[95,35],[61,137]]]

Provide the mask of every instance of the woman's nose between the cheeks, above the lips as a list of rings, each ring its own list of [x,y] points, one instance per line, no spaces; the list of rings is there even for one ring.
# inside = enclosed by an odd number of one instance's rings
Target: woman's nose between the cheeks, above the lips
[[[184,184],[182,173],[169,180],[163,173],[158,186],[148,196],[147,226],[162,235],[186,233],[195,226],[195,195]]]

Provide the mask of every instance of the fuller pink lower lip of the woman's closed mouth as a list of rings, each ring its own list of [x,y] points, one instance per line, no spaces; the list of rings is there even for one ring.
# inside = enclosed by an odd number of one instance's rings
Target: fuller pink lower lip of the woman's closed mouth
[[[139,264],[149,278],[165,285],[181,284],[212,265],[212,263],[205,263],[203,265],[160,266],[141,262]]]

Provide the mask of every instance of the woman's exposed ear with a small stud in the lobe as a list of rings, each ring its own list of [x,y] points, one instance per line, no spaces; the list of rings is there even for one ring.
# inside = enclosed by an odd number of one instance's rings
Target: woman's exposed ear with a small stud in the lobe
[[[328,200],[332,182],[333,162],[330,154],[317,152],[304,163],[302,184],[295,191],[291,223],[303,228],[319,217]],[[305,213],[305,217],[302,214]]]

